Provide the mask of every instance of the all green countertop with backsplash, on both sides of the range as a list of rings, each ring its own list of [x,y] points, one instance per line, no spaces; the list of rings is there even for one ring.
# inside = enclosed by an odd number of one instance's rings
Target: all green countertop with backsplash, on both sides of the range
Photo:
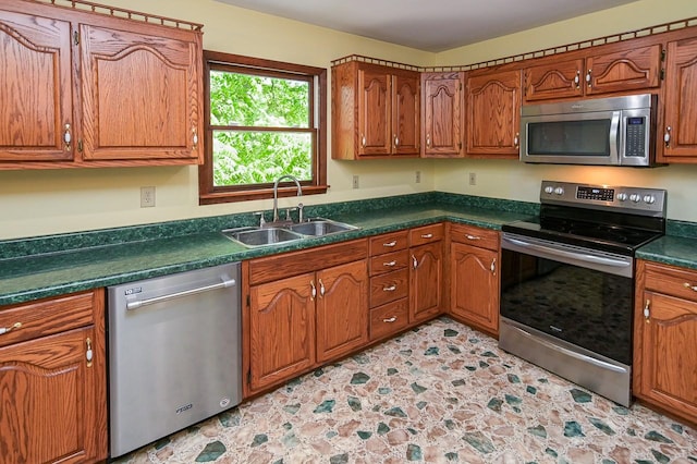
[[[0,305],[160,277],[258,256],[424,225],[443,220],[499,230],[537,213],[537,205],[466,195],[404,195],[307,207],[307,217],[358,225],[356,231],[246,248],[220,231],[250,225],[250,213],[0,242]],[[685,230],[692,231],[686,224]],[[670,233],[670,230],[669,230]],[[645,259],[697,269],[697,240],[665,236]]]

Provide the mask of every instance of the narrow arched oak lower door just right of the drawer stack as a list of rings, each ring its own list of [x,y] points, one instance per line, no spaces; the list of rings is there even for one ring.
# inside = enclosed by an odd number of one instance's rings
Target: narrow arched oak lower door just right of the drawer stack
[[[442,309],[442,242],[411,248],[409,323],[428,319]]]

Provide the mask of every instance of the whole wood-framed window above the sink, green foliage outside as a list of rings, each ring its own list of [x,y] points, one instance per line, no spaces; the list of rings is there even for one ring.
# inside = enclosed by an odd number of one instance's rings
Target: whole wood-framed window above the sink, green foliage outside
[[[327,192],[327,70],[205,51],[201,205]],[[295,195],[281,183],[279,196]]]

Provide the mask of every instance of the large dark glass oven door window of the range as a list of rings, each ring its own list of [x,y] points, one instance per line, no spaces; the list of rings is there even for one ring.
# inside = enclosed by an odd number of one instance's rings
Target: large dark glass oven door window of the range
[[[502,251],[501,315],[632,364],[633,280]]]

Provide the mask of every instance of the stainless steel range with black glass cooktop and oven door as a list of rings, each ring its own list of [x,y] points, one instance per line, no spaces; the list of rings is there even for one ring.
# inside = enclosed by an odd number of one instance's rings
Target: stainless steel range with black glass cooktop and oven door
[[[542,181],[540,215],[502,227],[499,346],[632,401],[635,251],[663,235],[667,192]]]

